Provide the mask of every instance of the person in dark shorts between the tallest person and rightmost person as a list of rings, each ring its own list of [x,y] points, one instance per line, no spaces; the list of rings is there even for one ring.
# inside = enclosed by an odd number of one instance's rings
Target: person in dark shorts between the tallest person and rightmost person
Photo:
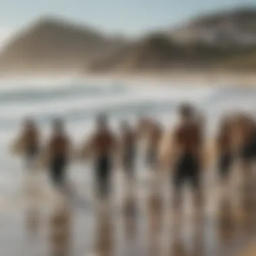
[[[216,137],[216,150],[218,154],[218,171],[222,180],[226,181],[232,167],[232,123],[228,117],[220,121]]]

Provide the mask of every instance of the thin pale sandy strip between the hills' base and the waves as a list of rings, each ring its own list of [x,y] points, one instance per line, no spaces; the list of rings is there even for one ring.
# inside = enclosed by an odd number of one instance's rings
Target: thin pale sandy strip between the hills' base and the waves
[[[100,73],[98,75],[92,73],[13,73],[13,75],[0,75],[0,82],[11,81],[78,81],[78,82],[110,82],[122,83],[129,85],[154,85],[154,86],[241,86],[255,87],[256,73],[230,73],[220,71],[172,71],[163,73]]]

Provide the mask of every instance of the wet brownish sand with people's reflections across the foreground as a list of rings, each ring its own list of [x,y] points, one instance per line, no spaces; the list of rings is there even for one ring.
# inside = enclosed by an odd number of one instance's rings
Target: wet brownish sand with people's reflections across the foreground
[[[126,190],[116,172],[108,203],[96,203],[85,183],[72,183],[63,201],[27,181],[26,194],[1,201],[3,255],[247,256],[256,235],[256,179],[241,183],[234,172],[221,186],[215,170],[205,171],[203,210],[192,207],[186,190],[183,212],[177,212],[170,205],[169,174],[143,173]],[[160,187],[152,182],[156,173]]]

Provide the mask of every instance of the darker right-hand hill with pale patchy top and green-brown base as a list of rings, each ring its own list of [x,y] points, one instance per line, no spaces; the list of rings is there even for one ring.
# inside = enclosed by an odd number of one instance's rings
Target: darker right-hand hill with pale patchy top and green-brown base
[[[231,9],[150,34],[114,55],[93,61],[90,71],[253,69],[255,46],[256,9]]]

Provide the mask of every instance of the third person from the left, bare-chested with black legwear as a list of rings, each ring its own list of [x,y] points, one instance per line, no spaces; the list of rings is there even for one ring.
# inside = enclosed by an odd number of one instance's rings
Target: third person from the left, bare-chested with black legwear
[[[117,139],[108,127],[106,115],[101,114],[96,120],[96,131],[89,142],[83,147],[94,159],[94,172],[96,175],[96,193],[100,198],[108,197],[110,193],[110,179],[113,172],[114,154],[117,150]]]

